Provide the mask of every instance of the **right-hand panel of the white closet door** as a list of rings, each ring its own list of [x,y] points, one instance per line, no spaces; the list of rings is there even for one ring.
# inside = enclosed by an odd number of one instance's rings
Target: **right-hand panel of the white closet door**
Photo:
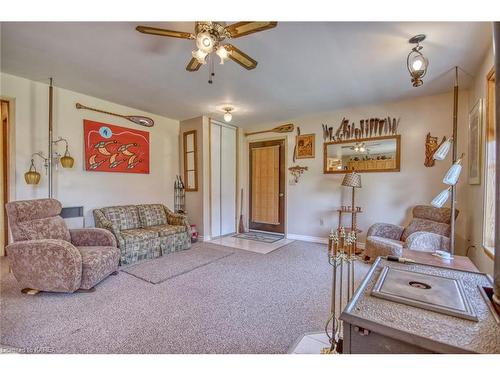
[[[221,235],[236,232],[236,129],[222,126]]]

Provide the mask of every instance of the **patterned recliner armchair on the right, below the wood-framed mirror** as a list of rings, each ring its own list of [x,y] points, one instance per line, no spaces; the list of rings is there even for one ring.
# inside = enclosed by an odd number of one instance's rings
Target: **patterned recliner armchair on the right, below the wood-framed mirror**
[[[458,211],[455,211],[455,217]],[[378,256],[401,256],[403,248],[434,252],[450,248],[451,209],[415,206],[413,219],[405,228],[399,225],[376,223],[368,229],[365,259]]]

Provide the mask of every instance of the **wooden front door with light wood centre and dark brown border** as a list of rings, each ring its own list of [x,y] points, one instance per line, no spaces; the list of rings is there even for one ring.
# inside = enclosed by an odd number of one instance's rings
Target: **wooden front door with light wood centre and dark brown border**
[[[250,229],[285,232],[285,141],[250,143]]]

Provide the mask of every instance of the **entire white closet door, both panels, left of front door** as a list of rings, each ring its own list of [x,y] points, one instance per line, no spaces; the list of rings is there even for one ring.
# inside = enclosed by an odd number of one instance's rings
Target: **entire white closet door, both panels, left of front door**
[[[211,237],[236,232],[236,128],[210,123]]]

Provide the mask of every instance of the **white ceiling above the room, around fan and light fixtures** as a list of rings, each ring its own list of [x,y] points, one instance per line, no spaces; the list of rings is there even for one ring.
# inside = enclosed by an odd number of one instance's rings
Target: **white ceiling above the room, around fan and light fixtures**
[[[140,34],[138,24],[193,31],[193,22],[2,23],[1,70],[175,119],[221,118],[237,107],[236,125],[280,122],[355,105],[448,91],[459,65],[475,73],[491,44],[489,23],[280,22],[232,43],[256,59],[247,71],[185,66],[194,41]],[[408,39],[427,35],[430,66],[413,88]],[[470,81],[470,79],[469,79]],[[463,81],[467,84],[467,80]],[[217,113],[217,115],[214,115]]]

